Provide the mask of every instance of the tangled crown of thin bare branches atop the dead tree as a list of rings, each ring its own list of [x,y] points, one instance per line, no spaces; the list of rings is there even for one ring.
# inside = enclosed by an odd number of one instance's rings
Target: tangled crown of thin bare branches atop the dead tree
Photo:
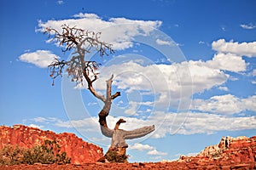
[[[49,35],[51,41],[55,41],[61,46],[63,52],[74,49],[73,57],[70,60],[55,59],[49,65],[50,77],[53,80],[61,76],[64,67],[67,66],[68,76],[72,77],[73,82],[83,82],[85,78],[86,81],[92,83],[97,79],[96,70],[99,64],[96,61],[86,60],[85,54],[89,54],[92,50],[96,50],[100,56],[113,54],[112,45],[100,40],[101,32],[84,31],[76,26],[63,25],[61,31],[45,28],[44,33]]]

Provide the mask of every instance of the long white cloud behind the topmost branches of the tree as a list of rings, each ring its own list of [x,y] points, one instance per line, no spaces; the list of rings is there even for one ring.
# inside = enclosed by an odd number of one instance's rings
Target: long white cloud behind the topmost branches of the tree
[[[38,23],[38,31],[44,31],[44,28],[51,27],[61,31],[61,26],[77,26],[85,31],[101,31],[102,41],[112,43],[113,49],[131,48],[133,45],[132,38],[138,35],[148,35],[150,31],[160,27],[161,21],[151,20],[129,20],[125,18],[111,18],[102,20],[96,14],[75,14],[75,19],[67,20],[48,20]],[[114,30],[114,31],[113,31]]]

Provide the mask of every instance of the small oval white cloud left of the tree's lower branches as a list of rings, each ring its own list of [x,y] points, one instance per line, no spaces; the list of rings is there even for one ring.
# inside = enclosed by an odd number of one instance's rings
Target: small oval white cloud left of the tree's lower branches
[[[60,59],[60,57],[47,50],[38,50],[36,52],[22,54],[19,59],[26,63],[37,65],[40,68],[46,68],[55,59]]]

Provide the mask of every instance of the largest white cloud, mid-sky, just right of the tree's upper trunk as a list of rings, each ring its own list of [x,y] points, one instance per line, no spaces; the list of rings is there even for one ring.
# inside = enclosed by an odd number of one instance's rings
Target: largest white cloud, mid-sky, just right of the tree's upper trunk
[[[141,65],[131,60],[119,65],[106,65],[102,67],[101,73],[102,78],[96,82],[97,89],[104,90],[105,80],[113,74],[115,75],[113,85],[117,88],[127,93],[146,89],[148,94],[155,95],[154,106],[160,107],[169,104],[177,106],[180,103],[184,105],[190,101],[192,94],[219,86],[229,78],[229,75],[223,71],[212,68],[212,65],[203,61],[186,61],[172,65]],[[136,109],[135,104],[131,106],[133,110],[129,111],[130,113]]]

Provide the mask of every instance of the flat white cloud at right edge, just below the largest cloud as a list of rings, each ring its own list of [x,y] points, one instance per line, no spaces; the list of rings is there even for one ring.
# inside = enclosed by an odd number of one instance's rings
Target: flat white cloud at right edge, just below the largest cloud
[[[234,95],[226,94],[213,96],[210,99],[194,99],[193,109],[217,114],[232,115],[241,111],[256,111],[256,96],[239,99]]]

